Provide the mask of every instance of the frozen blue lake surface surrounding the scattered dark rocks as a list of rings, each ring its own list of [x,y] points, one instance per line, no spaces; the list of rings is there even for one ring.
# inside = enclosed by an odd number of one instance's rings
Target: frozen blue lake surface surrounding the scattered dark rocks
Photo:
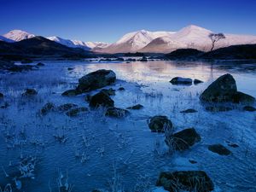
[[[15,190],[13,178],[17,177],[24,191],[58,191],[58,178],[63,175],[62,184],[73,185],[73,191],[112,191],[115,184],[116,189],[143,192],[154,190],[162,171],[203,170],[218,191],[256,191],[256,114],[242,111],[240,105],[229,112],[209,113],[199,101],[207,85],[224,73],[234,76],[238,90],[255,97],[255,64],[42,62],[46,66],[37,71],[1,74],[0,92],[5,96],[1,106],[9,103],[8,108],[0,108],[0,166],[9,175],[5,177],[0,171],[2,189],[12,183]],[[88,107],[84,95],[64,97],[61,93],[75,87],[84,74],[101,68],[117,74],[116,84],[108,86],[116,90],[112,96],[116,107],[139,103],[144,108],[131,110],[125,119],[104,117],[103,108],[73,118],[58,112],[38,115],[46,102]],[[169,81],[174,77],[205,83],[172,85]],[[125,90],[119,91],[121,86]],[[22,97],[26,88],[38,90],[38,96]],[[198,112],[180,113],[187,108]],[[201,143],[185,152],[168,154],[164,135],[148,129],[147,119],[157,114],[168,116],[175,131],[195,127]],[[223,144],[232,154],[220,156],[208,151],[207,145],[214,143]],[[228,143],[239,147],[231,148]],[[28,156],[36,158],[34,178],[20,178],[20,157]]]

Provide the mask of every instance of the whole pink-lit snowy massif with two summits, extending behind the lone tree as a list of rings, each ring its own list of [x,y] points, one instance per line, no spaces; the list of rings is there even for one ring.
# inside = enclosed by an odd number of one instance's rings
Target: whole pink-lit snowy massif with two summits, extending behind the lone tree
[[[200,26],[186,26],[177,32],[130,32],[114,44],[96,52],[126,53],[148,52],[169,53],[176,49],[194,48],[204,51],[211,49],[212,31]],[[215,49],[235,44],[256,44],[256,36],[224,34],[225,38],[218,41]]]

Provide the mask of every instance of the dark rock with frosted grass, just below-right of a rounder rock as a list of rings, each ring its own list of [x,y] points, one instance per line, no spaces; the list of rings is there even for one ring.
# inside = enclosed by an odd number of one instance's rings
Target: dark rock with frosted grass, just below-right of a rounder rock
[[[174,133],[173,135],[166,136],[166,144],[177,151],[189,149],[195,143],[199,143],[200,141],[201,136],[194,128],[185,129]]]

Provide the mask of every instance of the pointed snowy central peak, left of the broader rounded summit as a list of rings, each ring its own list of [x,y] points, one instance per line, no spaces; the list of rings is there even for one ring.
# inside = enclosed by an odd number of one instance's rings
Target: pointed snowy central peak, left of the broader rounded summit
[[[93,49],[96,52],[106,53],[126,53],[137,52],[139,49],[143,49],[155,38],[165,37],[171,35],[173,32],[148,32],[141,30],[138,32],[130,32],[119,39],[114,44],[110,44],[103,49]]]

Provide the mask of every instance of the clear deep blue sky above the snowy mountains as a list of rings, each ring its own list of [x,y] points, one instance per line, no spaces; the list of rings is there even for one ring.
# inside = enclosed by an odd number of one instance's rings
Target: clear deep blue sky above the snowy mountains
[[[0,0],[0,34],[114,42],[127,32],[177,31],[194,24],[214,32],[256,35],[255,0]]]

